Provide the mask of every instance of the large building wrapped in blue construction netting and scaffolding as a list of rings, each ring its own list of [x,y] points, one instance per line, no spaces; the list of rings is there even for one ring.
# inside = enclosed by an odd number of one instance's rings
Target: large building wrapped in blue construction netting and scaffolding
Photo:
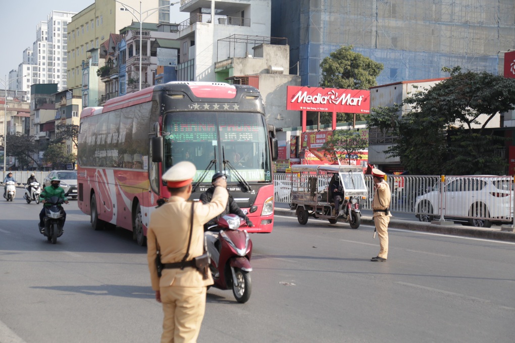
[[[288,39],[302,85],[318,86],[321,61],[342,45],[384,64],[379,85],[449,76],[442,67],[502,74],[515,2],[272,0],[271,35]]]

